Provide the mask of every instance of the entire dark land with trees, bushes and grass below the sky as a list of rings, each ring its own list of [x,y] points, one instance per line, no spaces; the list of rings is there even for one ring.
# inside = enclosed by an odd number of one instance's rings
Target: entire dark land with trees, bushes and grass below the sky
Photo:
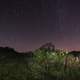
[[[52,43],[25,53],[0,47],[0,80],[80,80],[80,52],[57,50]]]

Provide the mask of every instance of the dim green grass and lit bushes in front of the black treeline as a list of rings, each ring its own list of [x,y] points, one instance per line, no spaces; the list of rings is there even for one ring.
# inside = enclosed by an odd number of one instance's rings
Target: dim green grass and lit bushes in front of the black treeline
[[[59,51],[36,50],[29,59],[0,63],[0,80],[80,80],[79,62]],[[20,62],[23,61],[23,62]]]

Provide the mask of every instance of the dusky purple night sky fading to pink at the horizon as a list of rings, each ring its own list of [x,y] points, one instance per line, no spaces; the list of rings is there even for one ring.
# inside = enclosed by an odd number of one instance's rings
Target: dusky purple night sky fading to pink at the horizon
[[[80,0],[0,1],[0,46],[29,51],[46,42],[80,50]]]

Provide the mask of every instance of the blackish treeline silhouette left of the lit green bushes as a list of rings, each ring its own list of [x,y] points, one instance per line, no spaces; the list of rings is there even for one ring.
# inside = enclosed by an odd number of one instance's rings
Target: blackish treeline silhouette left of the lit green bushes
[[[32,52],[19,53],[10,47],[0,47],[0,62],[25,62],[32,55]]]

